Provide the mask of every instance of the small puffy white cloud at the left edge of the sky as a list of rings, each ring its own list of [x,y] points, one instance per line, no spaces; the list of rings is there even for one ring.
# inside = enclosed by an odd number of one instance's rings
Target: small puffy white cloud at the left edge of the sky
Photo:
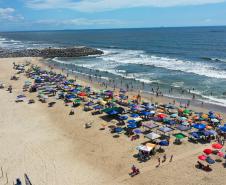
[[[0,20],[18,21],[23,19],[23,16],[15,14],[15,9],[13,8],[0,8]]]

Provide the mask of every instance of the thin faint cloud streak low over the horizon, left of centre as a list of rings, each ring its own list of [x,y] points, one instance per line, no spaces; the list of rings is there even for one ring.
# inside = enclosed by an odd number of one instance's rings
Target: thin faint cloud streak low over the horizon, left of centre
[[[35,24],[41,25],[51,25],[51,26],[89,26],[89,25],[118,25],[123,24],[119,20],[115,19],[86,19],[86,18],[77,18],[77,19],[68,19],[68,20],[38,20],[34,22]]]

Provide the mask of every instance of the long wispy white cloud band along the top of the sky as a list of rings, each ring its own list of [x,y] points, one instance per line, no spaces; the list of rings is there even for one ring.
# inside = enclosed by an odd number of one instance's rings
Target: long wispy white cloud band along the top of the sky
[[[174,7],[223,3],[226,0],[26,0],[34,9],[73,9],[81,12],[102,12],[134,7]]]

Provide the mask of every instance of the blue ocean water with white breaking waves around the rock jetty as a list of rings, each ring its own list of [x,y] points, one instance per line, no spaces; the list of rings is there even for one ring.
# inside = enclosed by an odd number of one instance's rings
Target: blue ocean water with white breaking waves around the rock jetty
[[[123,81],[134,89],[226,106],[226,27],[0,33],[0,47],[89,46],[101,56],[55,58],[77,74]],[[173,88],[173,92],[169,89]],[[183,92],[183,93],[182,93]]]

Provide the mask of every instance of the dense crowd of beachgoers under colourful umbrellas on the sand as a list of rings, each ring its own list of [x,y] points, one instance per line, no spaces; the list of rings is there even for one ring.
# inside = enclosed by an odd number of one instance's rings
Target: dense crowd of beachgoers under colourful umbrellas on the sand
[[[156,153],[164,153],[171,145],[181,145],[184,142],[209,143],[210,147],[200,151],[197,156],[199,169],[211,171],[215,162],[226,159],[224,141],[226,138],[226,124],[220,113],[209,111],[195,112],[187,106],[178,106],[175,103],[160,104],[146,101],[140,94],[129,96],[124,89],[93,90],[89,86],[77,83],[76,78],[54,72],[52,69],[43,70],[41,67],[30,64],[16,64],[13,66],[15,75],[11,80],[19,80],[18,74],[24,74],[23,92],[18,94],[16,102],[36,102],[24,95],[24,92],[37,93],[38,100],[54,107],[57,101],[62,100],[69,107],[69,116],[76,116],[77,107],[90,112],[93,116],[100,116],[105,122],[100,125],[101,130],[109,129],[114,138],[128,137],[131,141],[145,138],[136,147],[139,162],[146,162]],[[6,87],[0,83],[0,88],[7,88],[11,93],[13,87]],[[112,124],[112,120],[115,124]],[[84,124],[84,129],[92,128],[93,123]],[[178,146],[179,147],[179,146]],[[163,155],[158,158],[156,167],[169,158],[173,162],[175,154]],[[203,163],[205,162],[205,163]],[[222,163],[223,166],[226,165]],[[131,176],[142,170],[131,164]]]

